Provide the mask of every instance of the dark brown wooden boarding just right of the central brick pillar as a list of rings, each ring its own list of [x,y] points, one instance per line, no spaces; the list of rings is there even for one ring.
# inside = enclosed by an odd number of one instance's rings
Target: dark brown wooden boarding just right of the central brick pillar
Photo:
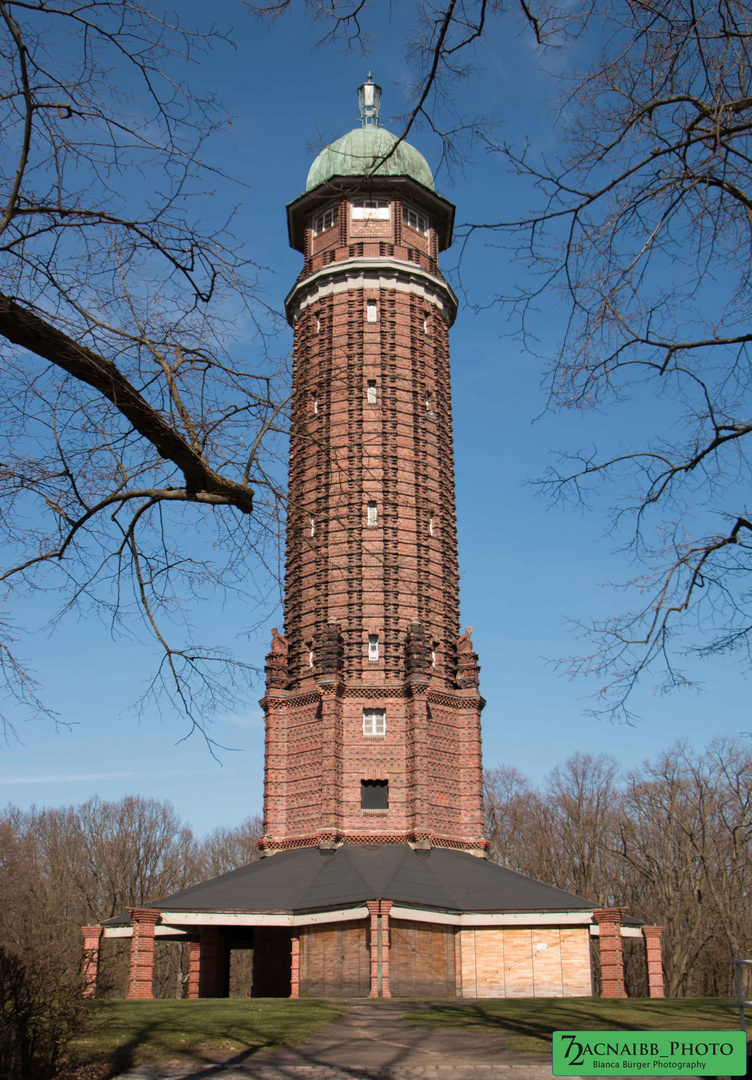
[[[389,985],[392,997],[456,995],[454,927],[390,919]]]

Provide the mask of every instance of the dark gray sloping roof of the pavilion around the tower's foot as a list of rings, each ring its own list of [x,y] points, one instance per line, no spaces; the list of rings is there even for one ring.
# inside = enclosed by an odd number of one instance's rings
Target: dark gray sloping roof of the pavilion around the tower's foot
[[[464,851],[407,843],[298,848],[147,904],[166,912],[325,912],[391,900],[441,912],[575,912],[590,901]],[[122,926],[125,916],[105,926]]]

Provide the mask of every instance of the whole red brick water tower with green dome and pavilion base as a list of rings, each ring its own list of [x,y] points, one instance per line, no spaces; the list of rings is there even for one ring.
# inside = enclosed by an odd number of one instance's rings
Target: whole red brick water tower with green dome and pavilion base
[[[294,328],[284,633],[267,656],[265,858],[98,927],[131,939],[151,997],[160,939],[187,945],[188,997],[625,994],[621,939],[660,928],[489,862],[478,657],[460,634],[448,330],[439,269],[454,206],[379,122],[323,150],[287,207],[304,256]],[[146,897],[145,897],[146,899]]]

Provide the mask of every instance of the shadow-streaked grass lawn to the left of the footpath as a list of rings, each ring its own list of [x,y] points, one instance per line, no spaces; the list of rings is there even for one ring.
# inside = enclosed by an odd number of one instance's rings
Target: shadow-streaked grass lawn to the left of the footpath
[[[92,1076],[300,1042],[343,1012],[331,1001],[284,998],[95,1001],[91,1010],[91,1023],[71,1054],[91,1067]]]

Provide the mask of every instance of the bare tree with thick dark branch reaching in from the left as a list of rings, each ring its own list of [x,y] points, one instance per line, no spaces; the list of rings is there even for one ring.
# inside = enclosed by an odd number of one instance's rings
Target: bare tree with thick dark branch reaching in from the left
[[[186,80],[221,45],[133,0],[0,3],[0,603],[140,620],[162,657],[147,697],[198,725],[249,670],[179,608],[268,589],[283,427],[273,366],[249,355],[269,326],[255,268],[191,208],[221,179],[202,153],[224,117]],[[5,620],[0,669],[39,708],[17,633]]]

